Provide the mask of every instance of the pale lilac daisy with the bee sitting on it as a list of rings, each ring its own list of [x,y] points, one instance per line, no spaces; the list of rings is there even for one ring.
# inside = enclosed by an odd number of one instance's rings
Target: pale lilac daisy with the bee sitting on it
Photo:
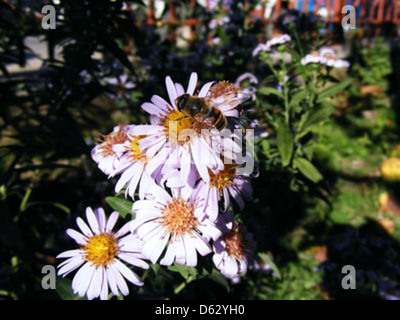
[[[212,84],[206,83],[196,96],[212,101],[225,117],[238,117],[236,106],[247,96],[227,82],[222,81],[211,87]],[[184,94],[195,95],[196,85],[196,73],[191,74],[186,92],[181,84],[173,83],[168,76],[166,86],[170,101],[154,95],[152,103],[144,103],[142,108],[150,113],[153,124],[135,126],[131,133],[135,136],[146,135],[139,145],[146,150],[148,157],[154,157],[152,164],[149,164],[152,171],[166,163],[179,164],[183,180],[186,181],[191,163],[194,163],[202,179],[209,181],[209,169],[215,171],[224,167],[220,153],[235,154],[238,146],[231,139],[225,139],[226,142],[222,144],[221,137],[215,135],[215,127],[208,119],[188,116],[177,108],[177,98]]]

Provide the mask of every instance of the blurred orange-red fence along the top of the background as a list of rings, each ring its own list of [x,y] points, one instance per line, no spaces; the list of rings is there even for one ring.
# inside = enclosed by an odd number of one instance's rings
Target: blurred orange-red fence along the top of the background
[[[177,11],[183,5],[194,7],[196,0],[183,3],[178,0],[166,2],[166,12],[162,17],[156,18],[155,6],[157,0],[148,0],[147,20],[148,25],[191,26],[198,24],[198,19],[186,17],[179,19]],[[218,2],[215,0],[199,1],[208,9]],[[278,17],[288,9],[297,9],[304,13],[314,13],[325,20],[327,33],[335,33],[341,25],[343,17],[342,8],[352,5],[356,13],[356,28],[365,36],[379,35],[386,30],[386,35],[398,36],[400,25],[400,0],[260,0],[260,4],[251,12],[251,18],[258,18],[265,24],[275,23]],[[228,11],[228,9],[226,9]],[[385,28],[382,28],[385,26]],[[389,32],[388,32],[389,30]]]

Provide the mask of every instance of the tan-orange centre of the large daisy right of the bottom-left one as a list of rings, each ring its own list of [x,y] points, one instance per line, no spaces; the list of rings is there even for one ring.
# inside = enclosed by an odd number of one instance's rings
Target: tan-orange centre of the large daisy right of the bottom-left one
[[[162,209],[160,223],[173,235],[182,235],[196,229],[198,220],[194,216],[195,205],[181,198],[174,198]]]

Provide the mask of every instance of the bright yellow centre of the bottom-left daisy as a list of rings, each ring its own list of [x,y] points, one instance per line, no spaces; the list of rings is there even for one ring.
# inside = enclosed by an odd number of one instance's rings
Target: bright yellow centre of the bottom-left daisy
[[[101,233],[91,237],[83,247],[85,259],[96,266],[106,266],[118,254],[117,239],[110,233]]]

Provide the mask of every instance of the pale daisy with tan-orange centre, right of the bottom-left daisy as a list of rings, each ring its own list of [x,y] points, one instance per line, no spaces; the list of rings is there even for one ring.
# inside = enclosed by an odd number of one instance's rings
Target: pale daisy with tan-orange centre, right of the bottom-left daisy
[[[143,240],[143,254],[156,263],[166,248],[161,265],[174,261],[187,266],[197,265],[197,252],[211,252],[210,239],[216,240],[221,231],[199,210],[204,198],[193,197],[193,189],[183,188],[173,196],[159,188],[152,200],[139,200],[132,210],[136,219],[131,231]]]

